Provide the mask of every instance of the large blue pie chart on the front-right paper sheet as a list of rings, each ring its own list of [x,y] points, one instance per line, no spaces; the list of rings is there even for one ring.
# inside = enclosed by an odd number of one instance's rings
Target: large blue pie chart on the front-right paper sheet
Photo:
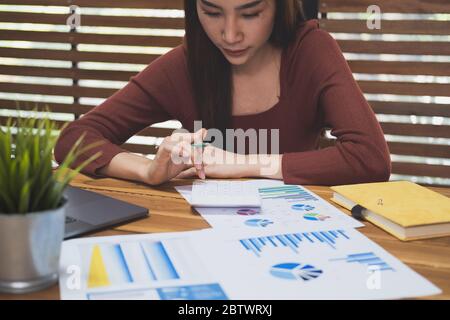
[[[322,273],[322,270],[317,269],[310,264],[296,262],[276,264],[270,269],[270,274],[272,276],[286,280],[310,281],[318,278]]]

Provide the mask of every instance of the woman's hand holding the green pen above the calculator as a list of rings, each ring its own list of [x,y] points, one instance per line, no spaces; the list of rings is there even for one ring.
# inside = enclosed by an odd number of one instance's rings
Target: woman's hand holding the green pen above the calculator
[[[200,179],[205,179],[202,150],[192,148],[192,143],[202,142],[206,129],[195,133],[174,133],[164,138],[159,145],[155,159],[146,170],[145,182],[159,185],[176,177],[181,172],[194,167]]]

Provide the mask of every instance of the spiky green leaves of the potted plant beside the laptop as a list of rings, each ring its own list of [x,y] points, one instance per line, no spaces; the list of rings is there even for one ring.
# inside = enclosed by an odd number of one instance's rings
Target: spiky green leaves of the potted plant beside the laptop
[[[0,213],[32,213],[62,205],[64,189],[96,153],[73,170],[69,167],[97,143],[83,146],[84,135],[72,146],[58,169],[53,170],[57,124],[48,117],[9,118],[0,127]]]

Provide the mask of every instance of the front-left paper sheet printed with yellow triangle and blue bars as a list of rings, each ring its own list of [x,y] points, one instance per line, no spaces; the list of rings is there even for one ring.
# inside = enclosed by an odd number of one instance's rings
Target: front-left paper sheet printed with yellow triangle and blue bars
[[[196,257],[189,234],[64,242],[62,299],[227,299]]]

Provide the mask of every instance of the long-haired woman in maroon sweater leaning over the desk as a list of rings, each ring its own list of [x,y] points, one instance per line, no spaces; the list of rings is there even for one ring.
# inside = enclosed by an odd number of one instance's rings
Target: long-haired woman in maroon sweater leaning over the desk
[[[62,132],[57,161],[86,132],[86,143],[104,143],[79,159],[102,151],[85,173],[150,185],[192,176],[316,185],[389,178],[389,151],[372,109],[335,40],[316,20],[304,20],[299,1],[185,0],[185,20],[183,45]],[[167,137],[154,160],[119,147],[145,127],[170,119],[188,132],[201,120],[204,129]],[[325,127],[337,142],[317,150]],[[226,129],[271,130],[267,139],[279,150],[260,157],[266,148],[248,150],[255,141],[246,143],[244,152],[217,144],[191,147],[213,128],[224,135]],[[225,158],[233,161],[218,161]]]

